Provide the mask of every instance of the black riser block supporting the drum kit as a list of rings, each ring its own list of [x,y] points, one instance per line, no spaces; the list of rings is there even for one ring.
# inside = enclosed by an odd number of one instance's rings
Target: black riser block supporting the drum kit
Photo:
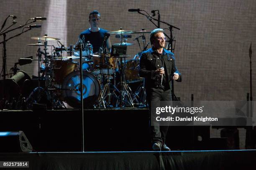
[[[87,151],[148,150],[148,110],[85,110]],[[1,112],[0,131],[22,130],[36,151],[82,151],[79,110]]]

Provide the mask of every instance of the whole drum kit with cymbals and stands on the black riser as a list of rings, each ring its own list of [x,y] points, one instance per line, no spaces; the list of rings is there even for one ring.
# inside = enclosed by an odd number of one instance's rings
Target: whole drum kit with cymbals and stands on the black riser
[[[64,47],[59,38],[31,37],[38,43],[27,46],[37,46],[38,57],[38,85],[26,98],[27,107],[34,102],[40,103],[43,96],[48,100],[52,109],[65,108],[67,105],[79,108],[81,103],[80,69],[82,69],[83,103],[87,108],[106,107],[134,107],[146,106],[146,92],[144,80],[138,75],[139,55],[134,59],[126,60],[126,49],[133,45],[128,43],[123,35],[149,33],[142,30],[138,32],[126,31],[120,28],[109,34],[120,35],[120,43],[113,44],[111,52],[100,50],[92,52],[90,42],[82,42],[82,64],[79,62],[80,50],[77,45]],[[48,41],[57,41],[60,47],[54,47],[49,55]],[[44,43],[41,43],[43,41]],[[44,47],[41,51],[41,47]],[[125,48],[124,48],[125,47]],[[118,48],[125,49],[120,52]],[[81,67],[82,65],[82,67]],[[42,85],[41,80],[45,84]],[[131,90],[130,85],[136,85],[136,90]],[[47,106],[48,107],[48,106]]]

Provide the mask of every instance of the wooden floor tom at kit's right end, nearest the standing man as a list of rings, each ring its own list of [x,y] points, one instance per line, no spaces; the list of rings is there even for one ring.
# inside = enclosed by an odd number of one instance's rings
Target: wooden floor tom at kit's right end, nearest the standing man
[[[125,80],[127,83],[140,82],[143,78],[139,76],[139,59],[125,61]]]

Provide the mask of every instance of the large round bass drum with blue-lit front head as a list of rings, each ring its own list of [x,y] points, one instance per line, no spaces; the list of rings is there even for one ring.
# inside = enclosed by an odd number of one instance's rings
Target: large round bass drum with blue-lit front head
[[[74,108],[79,108],[81,103],[80,72],[70,73],[62,84],[64,101]],[[84,107],[90,108],[99,100],[100,81],[90,72],[83,71],[83,101]]]

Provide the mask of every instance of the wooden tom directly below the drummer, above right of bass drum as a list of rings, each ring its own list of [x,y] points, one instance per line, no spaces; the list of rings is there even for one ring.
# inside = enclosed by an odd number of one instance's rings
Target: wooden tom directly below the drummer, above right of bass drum
[[[102,61],[100,61],[100,52],[92,55],[93,69],[95,74],[114,74],[115,72],[115,58],[110,56],[110,52],[102,54]],[[102,63],[101,63],[102,62]]]

